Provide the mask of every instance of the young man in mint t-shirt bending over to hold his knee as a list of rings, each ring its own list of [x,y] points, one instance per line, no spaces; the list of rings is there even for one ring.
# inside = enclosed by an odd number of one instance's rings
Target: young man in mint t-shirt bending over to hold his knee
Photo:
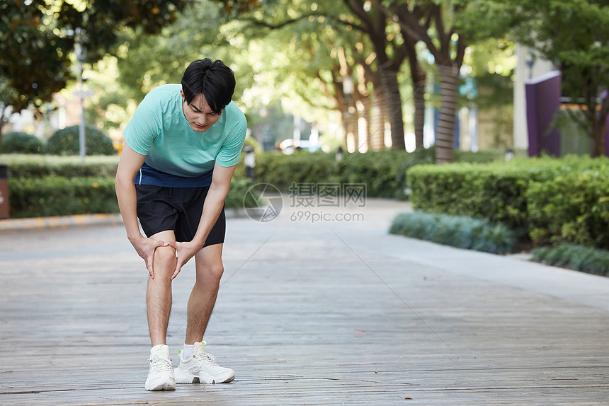
[[[149,272],[147,390],[234,379],[232,369],[218,366],[205,352],[203,341],[223,272],[224,199],[247,127],[243,112],[231,101],[234,86],[234,75],[222,61],[196,60],[181,85],[150,91],[123,132],[116,195],[127,238]],[[171,281],[191,257],[196,282],[188,300],[180,364],[173,371],[165,342]]]

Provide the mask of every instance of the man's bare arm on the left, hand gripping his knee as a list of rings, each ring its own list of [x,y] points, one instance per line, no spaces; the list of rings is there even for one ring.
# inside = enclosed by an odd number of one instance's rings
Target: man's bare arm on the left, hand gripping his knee
[[[168,244],[164,241],[153,241],[142,236],[140,226],[137,225],[137,195],[133,180],[142,168],[145,159],[145,155],[133,151],[127,143],[123,144],[123,152],[120,153],[120,161],[116,170],[115,189],[120,215],[123,216],[123,223],[125,223],[125,229],[127,230],[127,238],[129,238],[131,245],[140,257],[144,258],[148,272],[154,279],[154,270],[152,269],[154,250],[156,247]]]

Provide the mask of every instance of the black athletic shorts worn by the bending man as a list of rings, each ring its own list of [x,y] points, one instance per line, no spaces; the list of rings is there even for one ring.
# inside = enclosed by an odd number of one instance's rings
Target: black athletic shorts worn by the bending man
[[[203,203],[209,186],[205,187],[162,187],[135,185],[137,193],[137,218],[146,236],[161,231],[173,230],[176,241],[190,241],[195,236]],[[212,227],[204,247],[224,243],[226,215],[224,207],[216,224]]]

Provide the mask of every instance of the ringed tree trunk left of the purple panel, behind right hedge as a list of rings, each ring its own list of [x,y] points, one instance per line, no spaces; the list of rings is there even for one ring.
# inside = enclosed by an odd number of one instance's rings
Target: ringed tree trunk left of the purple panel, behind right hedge
[[[459,71],[453,66],[440,66],[440,117],[436,129],[436,163],[453,162],[458,75]]]

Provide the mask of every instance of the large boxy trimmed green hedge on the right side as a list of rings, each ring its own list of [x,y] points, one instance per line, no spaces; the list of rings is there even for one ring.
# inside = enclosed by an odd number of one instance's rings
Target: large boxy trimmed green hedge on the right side
[[[608,158],[567,156],[417,166],[416,209],[506,224],[535,243],[609,245]]]

